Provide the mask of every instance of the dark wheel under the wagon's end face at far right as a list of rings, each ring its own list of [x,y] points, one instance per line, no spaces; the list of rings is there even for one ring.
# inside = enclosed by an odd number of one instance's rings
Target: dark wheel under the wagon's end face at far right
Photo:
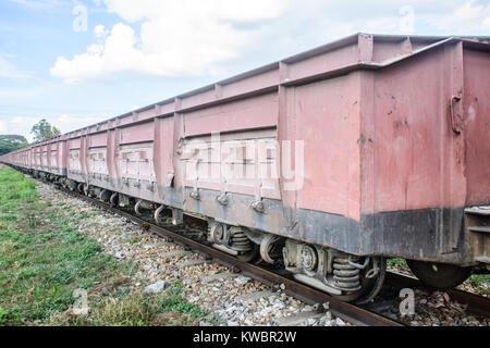
[[[456,287],[471,274],[471,268],[455,264],[414,260],[406,260],[406,263],[424,285],[438,289]]]

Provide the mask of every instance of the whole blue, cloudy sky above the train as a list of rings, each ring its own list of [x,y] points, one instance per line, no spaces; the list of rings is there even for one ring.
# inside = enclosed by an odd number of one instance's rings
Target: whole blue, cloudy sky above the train
[[[490,36],[490,0],[0,0],[0,134],[74,130],[359,32]]]

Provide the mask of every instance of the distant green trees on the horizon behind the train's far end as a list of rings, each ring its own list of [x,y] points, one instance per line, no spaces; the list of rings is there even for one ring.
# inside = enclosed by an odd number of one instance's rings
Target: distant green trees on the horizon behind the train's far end
[[[60,129],[52,126],[46,120],[36,123],[30,129],[30,133],[34,135],[34,142],[50,139],[61,134]],[[25,148],[28,145],[27,139],[22,135],[0,135],[0,156]]]

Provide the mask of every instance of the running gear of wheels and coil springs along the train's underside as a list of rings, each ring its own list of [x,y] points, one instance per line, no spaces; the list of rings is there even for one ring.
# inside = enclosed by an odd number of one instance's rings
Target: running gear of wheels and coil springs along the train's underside
[[[98,198],[112,207],[132,208],[137,214],[140,214],[143,210],[152,210],[158,224],[162,223],[160,215],[167,216],[166,221],[171,220],[174,225],[184,224],[182,209],[159,206],[52,173],[20,170],[40,181],[54,183],[72,191]],[[474,223],[476,213],[473,211],[468,213],[473,219],[468,219],[470,228],[479,232],[490,225],[487,211],[477,214],[479,219],[477,223]],[[366,303],[376,297],[384,281],[385,260],[383,257],[348,254],[332,248],[310,245],[245,226],[236,226],[212,217],[198,216],[198,219],[208,223],[207,239],[215,248],[233,254],[242,261],[264,261],[283,268],[297,281],[329,293],[343,301]],[[474,225],[477,225],[478,228]],[[414,274],[422,283],[438,288],[456,286],[465,281],[471,271],[471,268],[407,261]],[[441,278],[444,279],[444,284],[441,283]]]

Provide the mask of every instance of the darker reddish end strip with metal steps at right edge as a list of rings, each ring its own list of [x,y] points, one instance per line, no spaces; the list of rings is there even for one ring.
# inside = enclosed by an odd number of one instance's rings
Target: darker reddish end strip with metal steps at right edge
[[[466,140],[467,199],[465,232],[471,258],[490,263],[490,45],[465,42],[465,95],[461,102]],[[479,208],[474,208],[477,206]]]

